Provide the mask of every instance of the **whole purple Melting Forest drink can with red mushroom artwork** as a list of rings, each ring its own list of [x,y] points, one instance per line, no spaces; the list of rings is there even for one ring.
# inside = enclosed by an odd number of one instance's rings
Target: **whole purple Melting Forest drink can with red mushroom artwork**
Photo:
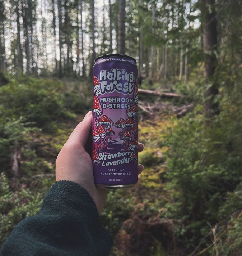
[[[138,71],[120,54],[93,67],[92,162],[99,188],[131,188],[138,179]]]

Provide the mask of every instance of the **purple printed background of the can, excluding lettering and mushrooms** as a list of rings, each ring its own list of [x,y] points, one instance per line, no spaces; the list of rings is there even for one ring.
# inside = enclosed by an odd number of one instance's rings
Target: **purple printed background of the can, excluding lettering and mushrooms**
[[[127,60],[127,61],[121,61],[121,60],[111,60],[110,59],[122,59],[122,60]],[[137,66],[134,60],[127,58],[127,57],[119,57],[119,56],[111,56],[111,57],[103,57],[100,59],[97,59],[94,67],[93,67],[93,76],[99,78],[99,72],[102,70],[106,70],[107,72],[110,72],[113,68],[117,69],[125,69],[127,73],[134,73],[134,89],[133,89],[133,94],[122,94],[118,93],[117,91],[113,91],[112,93],[105,93],[103,95],[99,95],[98,99],[100,102],[100,99],[102,97],[121,97],[121,98],[129,98],[133,99],[133,103],[130,104],[130,107],[135,105],[134,98],[135,98],[135,91],[136,91],[136,86],[138,84],[136,83],[137,77],[138,77],[138,71],[137,71]],[[126,81],[124,80],[119,80],[122,84],[124,84]],[[93,86],[94,88],[94,86]],[[137,88],[138,89],[138,88]],[[94,97],[94,94],[93,94]],[[116,103],[116,102],[115,102]],[[100,103],[101,106],[103,107],[103,103]],[[122,103],[121,103],[122,104]],[[129,103],[124,103],[124,104],[129,104]],[[110,143],[107,147],[106,154],[112,154],[112,153],[118,153],[118,152],[125,152],[124,146],[121,144],[124,142],[124,140],[120,140],[118,137],[118,133],[122,131],[122,128],[117,128],[115,127],[115,123],[120,120],[120,118],[123,118],[126,120],[129,116],[127,116],[126,113],[127,109],[103,109],[103,113],[101,116],[97,117],[96,120],[93,120],[92,123],[92,129],[96,130],[94,127],[94,123],[97,122],[99,118],[101,118],[103,115],[106,115],[108,118],[110,118],[113,121],[113,125],[111,126],[112,130],[115,132],[115,135],[112,136],[113,143]],[[94,119],[94,118],[93,118]],[[129,142],[131,143],[135,138],[137,138],[138,134],[138,122],[137,122],[137,117],[135,120],[136,126],[136,135],[131,132],[132,140]],[[132,129],[131,129],[132,130]],[[92,140],[92,149],[94,147],[97,147],[97,144],[94,144],[94,140]],[[103,152],[104,152],[103,151]],[[132,151],[131,151],[132,152]],[[138,180],[138,152],[137,150],[135,151],[137,155],[137,161],[130,160],[129,163],[124,163],[120,165],[112,165],[112,166],[101,166],[99,165],[93,165],[93,175],[94,175],[94,183],[95,184],[102,184],[102,185],[127,185],[127,184],[135,184],[137,183]],[[99,152],[98,152],[99,154]],[[127,157],[127,156],[125,156]],[[111,159],[107,160],[109,161],[116,161],[118,159],[124,158],[123,156],[117,159]],[[105,162],[107,162],[105,161]],[[108,169],[124,169],[125,171],[108,171]],[[101,175],[101,173],[122,173],[122,175]],[[130,173],[130,175],[123,175],[123,173]],[[111,179],[111,180],[110,180]],[[120,180],[117,180],[120,179]],[[115,181],[114,181],[115,180]]]

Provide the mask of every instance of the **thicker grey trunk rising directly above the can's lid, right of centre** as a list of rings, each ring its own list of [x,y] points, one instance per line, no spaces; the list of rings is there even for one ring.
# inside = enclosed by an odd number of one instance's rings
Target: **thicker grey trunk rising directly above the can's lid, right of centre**
[[[125,54],[125,0],[118,3],[118,53]]]

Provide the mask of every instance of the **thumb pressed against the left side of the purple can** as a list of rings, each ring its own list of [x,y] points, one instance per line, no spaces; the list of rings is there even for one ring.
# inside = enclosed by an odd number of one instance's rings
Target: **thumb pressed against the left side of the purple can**
[[[92,111],[88,111],[82,122],[80,122],[69,137],[70,143],[81,143],[84,147],[92,129]]]

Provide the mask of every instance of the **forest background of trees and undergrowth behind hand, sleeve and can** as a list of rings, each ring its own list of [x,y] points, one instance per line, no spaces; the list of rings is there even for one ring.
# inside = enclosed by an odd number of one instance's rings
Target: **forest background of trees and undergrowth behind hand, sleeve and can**
[[[0,0],[0,245],[55,181],[95,58],[120,53],[146,148],[138,184],[108,192],[111,255],[241,255],[241,17],[241,0]]]

